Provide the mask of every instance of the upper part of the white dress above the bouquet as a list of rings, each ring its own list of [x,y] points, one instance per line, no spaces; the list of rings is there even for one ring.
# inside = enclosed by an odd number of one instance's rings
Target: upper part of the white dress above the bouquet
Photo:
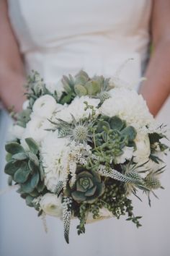
[[[47,82],[84,69],[138,80],[148,56],[151,0],[9,0],[9,18],[27,72]]]

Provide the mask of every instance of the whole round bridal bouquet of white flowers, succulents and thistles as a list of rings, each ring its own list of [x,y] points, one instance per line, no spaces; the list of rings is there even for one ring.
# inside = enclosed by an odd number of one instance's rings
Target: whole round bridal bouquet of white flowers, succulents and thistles
[[[81,70],[57,84],[32,72],[27,101],[14,114],[6,144],[9,185],[38,216],[61,218],[66,242],[72,218],[85,224],[128,216],[137,227],[130,195],[163,188],[167,146],[146,102],[118,79],[89,77]]]

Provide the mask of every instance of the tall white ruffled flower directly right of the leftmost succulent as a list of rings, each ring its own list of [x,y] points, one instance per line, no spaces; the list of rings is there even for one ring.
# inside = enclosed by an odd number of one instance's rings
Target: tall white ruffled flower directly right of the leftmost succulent
[[[55,192],[56,184],[64,182],[68,174],[68,143],[66,138],[58,138],[58,132],[48,132],[42,141],[40,152],[45,171],[45,186]]]

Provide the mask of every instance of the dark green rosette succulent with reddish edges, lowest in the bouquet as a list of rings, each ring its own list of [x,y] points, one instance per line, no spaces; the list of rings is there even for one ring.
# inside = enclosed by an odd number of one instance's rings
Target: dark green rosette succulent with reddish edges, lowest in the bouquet
[[[104,193],[104,182],[95,171],[80,171],[76,182],[71,188],[71,196],[78,203],[95,202]]]

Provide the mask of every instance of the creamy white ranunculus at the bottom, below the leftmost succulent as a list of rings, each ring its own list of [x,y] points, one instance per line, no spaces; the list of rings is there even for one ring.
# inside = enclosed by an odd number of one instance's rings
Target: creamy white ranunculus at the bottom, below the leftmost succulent
[[[47,193],[43,195],[40,200],[40,207],[42,210],[50,215],[55,217],[61,217],[63,213],[63,206],[61,203],[61,196]]]

